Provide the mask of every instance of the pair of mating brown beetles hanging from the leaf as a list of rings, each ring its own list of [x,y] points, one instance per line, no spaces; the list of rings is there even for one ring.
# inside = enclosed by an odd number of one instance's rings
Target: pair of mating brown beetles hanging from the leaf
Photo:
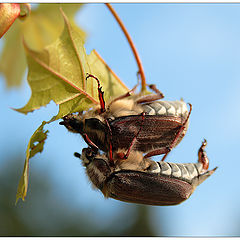
[[[61,124],[80,133],[90,146],[83,149],[82,155],[75,155],[82,159],[93,185],[105,197],[149,205],[176,205],[189,198],[216,170],[207,170],[206,141],[195,164],[156,163],[149,159],[165,154],[164,160],[182,140],[191,105],[188,112],[183,101],[156,101],[162,95],[155,90],[155,95],[142,98],[125,94],[106,109],[99,81],[98,91],[100,109],[67,115]]]

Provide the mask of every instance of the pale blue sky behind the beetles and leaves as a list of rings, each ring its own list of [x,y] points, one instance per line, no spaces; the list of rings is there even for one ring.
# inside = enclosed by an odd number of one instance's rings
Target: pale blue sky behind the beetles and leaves
[[[166,100],[183,98],[193,105],[187,135],[167,161],[197,161],[197,150],[206,138],[210,169],[219,167],[181,205],[151,207],[155,230],[161,211],[165,214],[164,231],[170,236],[234,235],[240,219],[240,4],[113,6],[136,44],[147,82],[156,84]],[[135,60],[107,8],[103,4],[85,5],[76,20],[88,33],[87,52],[96,49],[127,86],[134,86]],[[57,107],[51,103],[27,116],[13,111],[11,107],[26,104],[30,89],[25,81],[20,89],[6,91],[0,78],[4,116],[0,124],[0,161],[7,165],[7,156],[26,149],[32,133],[43,120],[57,113]],[[128,203],[105,200],[91,188],[83,167],[73,157],[73,152],[86,146],[80,136],[68,133],[57,123],[48,129],[45,150],[32,159],[30,170],[48,175],[61,201],[76,209],[91,209],[93,221],[104,216],[103,225],[124,206],[131,208]]]

